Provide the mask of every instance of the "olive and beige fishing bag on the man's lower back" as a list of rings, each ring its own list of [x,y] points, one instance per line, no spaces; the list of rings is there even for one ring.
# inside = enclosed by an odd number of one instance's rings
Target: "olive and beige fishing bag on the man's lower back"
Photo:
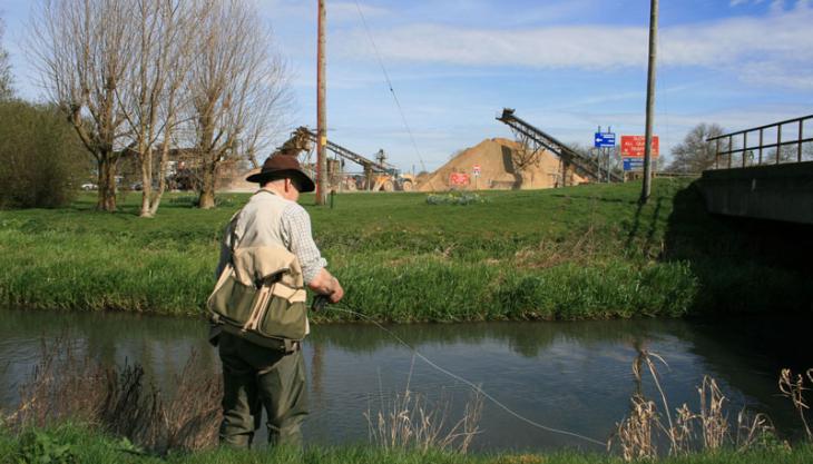
[[[296,256],[282,246],[237,248],[207,300],[227,333],[285,351],[308,333],[306,292]]]

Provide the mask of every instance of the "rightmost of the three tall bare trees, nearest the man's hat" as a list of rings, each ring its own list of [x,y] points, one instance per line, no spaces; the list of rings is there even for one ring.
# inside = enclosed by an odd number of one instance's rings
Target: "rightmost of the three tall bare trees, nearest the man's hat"
[[[253,157],[287,101],[285,66],[253,4],[198,0],[198,41],[187,79],[200,189],[215,206],[215,180],[229,158]]]

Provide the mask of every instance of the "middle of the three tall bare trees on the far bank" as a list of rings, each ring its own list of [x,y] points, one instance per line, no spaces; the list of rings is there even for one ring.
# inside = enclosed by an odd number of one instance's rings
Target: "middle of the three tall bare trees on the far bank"
[[[129,146],[141,174],[141,217],[155,216],[166,189],[167,165],[177,112],[183,101],[190,46],[195,34],[194,11],[183,0],[131,0],[135,6],[135,60],[126,85],[119,87],[121,111],[127,120]],[[163,138],[155,179],[155,145]]]

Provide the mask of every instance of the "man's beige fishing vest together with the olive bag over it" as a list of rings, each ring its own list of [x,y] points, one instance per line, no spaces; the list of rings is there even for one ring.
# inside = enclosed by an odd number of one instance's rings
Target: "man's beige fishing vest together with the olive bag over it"
[[[207,300],[223,330],[262,346],[295,349],[310,332],[302,267],[282,239],[287,201],[256,192],[229,223],[229,263]]]

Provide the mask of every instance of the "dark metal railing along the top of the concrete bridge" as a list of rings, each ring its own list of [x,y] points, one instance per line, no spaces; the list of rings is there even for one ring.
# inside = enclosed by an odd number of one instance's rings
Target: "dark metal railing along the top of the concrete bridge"
[[[813,159],[813,115],[709,137],[715,141],[715,169],[802,162]]]

